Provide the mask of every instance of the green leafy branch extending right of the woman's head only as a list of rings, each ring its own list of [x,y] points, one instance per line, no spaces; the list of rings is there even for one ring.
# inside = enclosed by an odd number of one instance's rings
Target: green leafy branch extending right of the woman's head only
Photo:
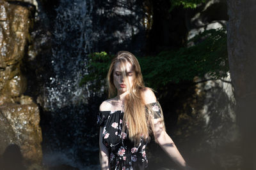
[[[192,41],[196,45],[189,48],[139,58],[149,87],[159,89],[170,82],[192,81],[195,76],[204,77],[206,73],[216,79],[226,76],[229,67],[225,29],[205,31]]]

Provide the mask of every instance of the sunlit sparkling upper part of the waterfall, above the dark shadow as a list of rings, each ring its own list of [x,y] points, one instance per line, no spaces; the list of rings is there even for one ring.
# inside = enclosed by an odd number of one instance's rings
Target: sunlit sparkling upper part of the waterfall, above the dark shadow
[[[56,8],[51,60],[55,76],[45,87],[45,108],[49,110],[86,103],[88,92],[78,84],[85,73],[86,54],[90,53],[91,10],[92,3],[82,0],[63,0]]]

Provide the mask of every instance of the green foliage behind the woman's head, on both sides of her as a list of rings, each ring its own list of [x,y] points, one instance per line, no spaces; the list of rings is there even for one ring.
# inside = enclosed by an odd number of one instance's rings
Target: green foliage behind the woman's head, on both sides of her
[[[225,29],[212,29],[200,33],[189,43],[191,47],[177,51],[164,51],[156,56],[137,57],[146,86],[159,89],[168,83],[193,81],[195,76],[212,78],[226,76],[228,71],[227,34]],[[92,53],[88,56],[86,68],[90,74],[83,77],[81,85],[91,82],[91,89],[99,90],[106,85],[106,75],[113,55],[106,52]]]

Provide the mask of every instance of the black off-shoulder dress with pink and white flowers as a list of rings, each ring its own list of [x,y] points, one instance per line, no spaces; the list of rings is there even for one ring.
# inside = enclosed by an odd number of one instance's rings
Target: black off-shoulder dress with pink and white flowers
[[[161,114],[157,103],[150,103],[152,110]],[[102,126],[102,143],[108,148],[111,169],[147,169],[148,160],[145,148],[147,141],[143,138],[138,146],[122,132],[123,111],[99,111],[97,125]]]

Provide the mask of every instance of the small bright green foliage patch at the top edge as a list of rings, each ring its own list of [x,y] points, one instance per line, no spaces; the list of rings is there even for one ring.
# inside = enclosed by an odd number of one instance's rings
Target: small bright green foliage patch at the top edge
[[[206,0],[170,0],[172,6],[170,11],[173,10],[175,6],[182,5],[184,8],[196,8],[200,3],[205,3]]]

